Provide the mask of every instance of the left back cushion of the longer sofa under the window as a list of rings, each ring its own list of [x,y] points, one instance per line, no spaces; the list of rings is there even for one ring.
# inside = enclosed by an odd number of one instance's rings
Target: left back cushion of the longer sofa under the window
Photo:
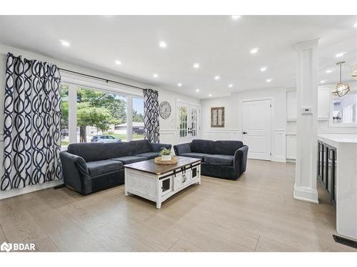
[[[79,157],[83,157],[86,162],[93,162],[113,157],[131,156],[130,142],[111,142],[111,143],[75,143],[68,146],[68,152]]]

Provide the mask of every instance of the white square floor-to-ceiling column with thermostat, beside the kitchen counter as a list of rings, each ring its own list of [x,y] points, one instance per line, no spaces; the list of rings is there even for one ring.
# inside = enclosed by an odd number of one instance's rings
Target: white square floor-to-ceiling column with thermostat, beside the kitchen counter
[[[318,203],[317,169],[317,70],[318,39],[296,43],[296,180],[293,197]]]

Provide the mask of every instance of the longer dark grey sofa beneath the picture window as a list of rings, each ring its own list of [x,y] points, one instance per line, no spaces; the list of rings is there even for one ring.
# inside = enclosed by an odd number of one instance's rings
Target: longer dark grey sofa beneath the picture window
[[[76,143],[60,152],[64,184],[81,194],[90,194],[124,184],[124,165],[154,159],[162,147],[148,140],[111,143]]]

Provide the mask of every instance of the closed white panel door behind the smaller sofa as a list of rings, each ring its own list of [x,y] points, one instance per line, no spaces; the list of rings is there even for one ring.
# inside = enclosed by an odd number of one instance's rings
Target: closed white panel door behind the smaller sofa
[[[248,158],[271,159],[271,100],[244,101],[242,137]]]

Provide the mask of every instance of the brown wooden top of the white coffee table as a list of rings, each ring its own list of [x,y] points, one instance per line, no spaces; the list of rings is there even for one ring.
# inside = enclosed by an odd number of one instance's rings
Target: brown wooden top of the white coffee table
[[[129,169],[136,169],[141,172],[149,172],[151,174],[161,175],[186,165],[201,163],[201,159],[195,159],[193,157],[178,157],[178,156],[176,157],[178,159],[178,162],[176,164],[171,164],[171,165],[156,164],[154,162],[154,159],[149,159],[143,162],[126,164],[124,165],[124,167]]]

